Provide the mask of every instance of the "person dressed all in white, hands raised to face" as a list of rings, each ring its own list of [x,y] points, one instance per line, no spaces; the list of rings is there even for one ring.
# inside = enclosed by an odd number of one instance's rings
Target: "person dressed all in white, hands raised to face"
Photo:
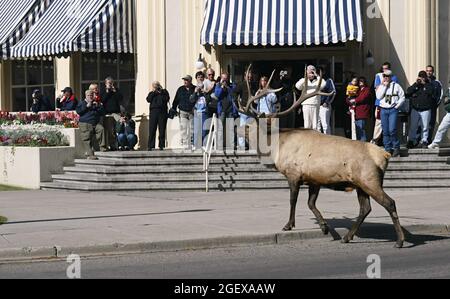
[[[303,78],[297,82],[295,87],[298,90],[303,90],[305,86],[305,80],[309,80],[308,82],[308,90],[307,93],[311,94],[317,90],[319,86],[320,77],[317,75],[316,68],[312,65],[308,66],[307,69],[307,78]],[[322,80],[322,84],[320,86],[320,90],[323,90],[326,87],[326,81]],[[319,131],[319,116],[320,116],[320,105],[322,104],[321,96],[315,96],[308,100],[306,100],[302,106],[303,110],[303,118],[305,120],[305,129],[312,129]]]

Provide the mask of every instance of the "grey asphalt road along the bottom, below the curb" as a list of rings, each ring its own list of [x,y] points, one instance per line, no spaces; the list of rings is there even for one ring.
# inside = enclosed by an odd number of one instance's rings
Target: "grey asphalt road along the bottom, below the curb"
[[[403,250],[391,240],[309,240],[278,246],[127,255],[81,260],[91,278],[300,279],[367,278],[369,255],[380,257],[381,278],[450,278],[449,236],[421,235]],[[66,261],[0,265],[0,278],[65,279]]]

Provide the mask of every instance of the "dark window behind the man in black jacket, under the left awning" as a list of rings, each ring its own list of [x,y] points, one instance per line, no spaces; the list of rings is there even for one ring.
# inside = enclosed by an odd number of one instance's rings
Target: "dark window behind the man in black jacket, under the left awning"
[[[123,94],[128,112],[135,112],[136,72],[133,54],[85,53],[81,56],[81,93],[92,83],[104,90],[104,80],[113,77]]]

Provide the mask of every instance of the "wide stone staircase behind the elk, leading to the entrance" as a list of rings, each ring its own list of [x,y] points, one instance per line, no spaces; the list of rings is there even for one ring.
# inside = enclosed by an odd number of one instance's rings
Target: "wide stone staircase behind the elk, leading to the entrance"
[[[202,153],[110,152],[98,161],[76,160],[43,190],[71,191],[205,191]],[[403,151],[392,159],[386,189],[450,189],[450,149]],[[450,162],[449,162],[450,163]],[[260,163],[256,153],[211,158],[211,191],[288,189],[285,178]]]

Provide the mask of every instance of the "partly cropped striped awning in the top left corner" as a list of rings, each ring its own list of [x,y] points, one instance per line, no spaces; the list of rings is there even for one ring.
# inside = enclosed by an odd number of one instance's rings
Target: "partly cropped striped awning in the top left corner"
[[[0,59],[17,44],[44,14],[53,0],[0,1]]]

